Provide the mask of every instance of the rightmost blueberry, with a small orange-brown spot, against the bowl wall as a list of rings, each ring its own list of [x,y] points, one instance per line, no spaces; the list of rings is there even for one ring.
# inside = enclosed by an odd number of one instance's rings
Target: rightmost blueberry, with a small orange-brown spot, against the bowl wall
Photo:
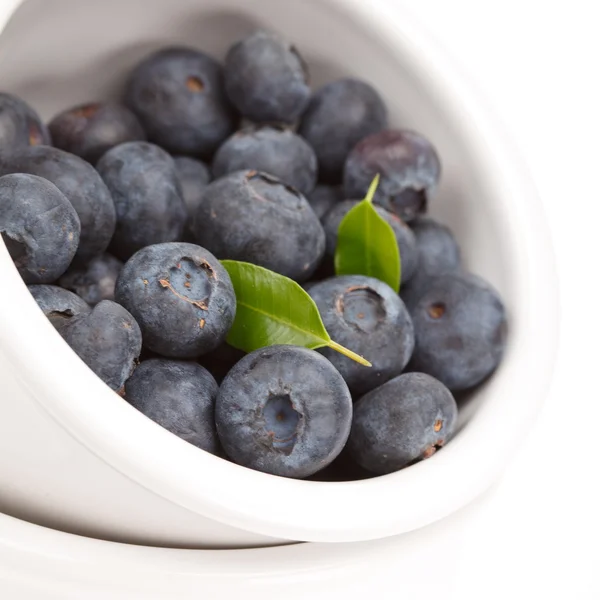
[[[432,279],[411,316],[411,370],[439,379],[454,392],[477,385],[500,363],[506,311],[498,292],[480,277],[459,271]]]

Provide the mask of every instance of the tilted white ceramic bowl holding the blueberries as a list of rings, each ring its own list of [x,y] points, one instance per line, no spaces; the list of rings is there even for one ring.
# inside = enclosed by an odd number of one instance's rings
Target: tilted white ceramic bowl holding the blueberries
[[[2,4],[0,29],[10,4]],[[111,540],[250,547],[391,536],[486,489],[545,396],[556,347],[552,253],[517,153],[414,21],[361,0],[12,4],[18,9],[0,35],[1,86],[45,118],[115,95],[154,48],[180,42],[223,56],[256,25],[297,44],[315,86],[340,75],[369,80],[393,124],[438,147],[444,174],[432,214],[454,228],[467,265],[504,296],[510,333],[503,364],[430,460],[368,481],[281,479],[198,451],[111,392],[55,333],[0,244],[0,509]]]

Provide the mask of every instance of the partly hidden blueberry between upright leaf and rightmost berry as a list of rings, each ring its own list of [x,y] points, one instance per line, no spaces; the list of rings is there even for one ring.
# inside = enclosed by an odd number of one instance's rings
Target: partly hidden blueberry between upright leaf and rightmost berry
[[[419,267],[414,277],[400,290],[406,306],[411,309],[432,277],[460,268],[460,248],[448,227],[437,221],[420,216],[411,221],[419,253]]]

